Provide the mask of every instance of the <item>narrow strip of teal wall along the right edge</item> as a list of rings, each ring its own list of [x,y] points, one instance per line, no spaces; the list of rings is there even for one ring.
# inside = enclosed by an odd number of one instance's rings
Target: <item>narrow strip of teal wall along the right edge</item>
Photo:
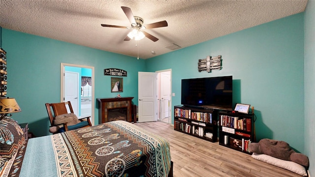
[[[315,174],[315,1],[307,2],[304,18],[305,58],[305,153],[310,160],[311,177]]]

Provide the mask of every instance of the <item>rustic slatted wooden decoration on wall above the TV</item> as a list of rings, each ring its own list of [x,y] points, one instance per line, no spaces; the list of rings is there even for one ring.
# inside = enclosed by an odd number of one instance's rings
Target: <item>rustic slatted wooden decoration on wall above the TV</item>
[[[198,71],[211,72],[212,69],[222,69],[221,56],[211,57],[207,56],[207,59],[198,60]]]

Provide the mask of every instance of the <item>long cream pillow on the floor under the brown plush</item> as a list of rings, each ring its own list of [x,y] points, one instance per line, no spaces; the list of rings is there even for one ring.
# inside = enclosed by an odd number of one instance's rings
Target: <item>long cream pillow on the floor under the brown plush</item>
[[[266,154],[257,154],[255,152],[252,153],[252,158],[283,168],[285,170],[289,170],[304,177],[307,176],[305,167],[292,161],[282,160]]]

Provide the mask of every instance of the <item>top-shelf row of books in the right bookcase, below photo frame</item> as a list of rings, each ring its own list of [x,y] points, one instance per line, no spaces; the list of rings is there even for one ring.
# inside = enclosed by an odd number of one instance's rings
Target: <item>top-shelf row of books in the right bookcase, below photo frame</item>
[[[245,131],[251,131],[252,119],[220,115],[220,125]]]

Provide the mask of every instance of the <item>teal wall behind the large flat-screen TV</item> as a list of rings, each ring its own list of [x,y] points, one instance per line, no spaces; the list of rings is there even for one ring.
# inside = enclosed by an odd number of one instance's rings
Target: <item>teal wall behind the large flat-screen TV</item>
[[[304,152],[304,13],[147,59],[146,69],[172,69],[172,107],[181,79],[233,76],[233,102],[254,106],[256,137]],[[198,59],[222,56],[222,70],[198,72]]]

